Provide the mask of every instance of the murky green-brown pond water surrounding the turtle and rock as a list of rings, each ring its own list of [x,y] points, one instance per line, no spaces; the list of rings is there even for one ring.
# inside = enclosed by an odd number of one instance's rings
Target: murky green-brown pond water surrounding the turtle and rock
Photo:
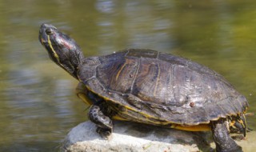
[[[42,22],[70,34],[86,56],[125,48],[177,54],[228,79],[256,112],[256,2],[0,2],[0,151],[54,151],[86,120],[76,80],[38,42]],[[255,116],[247,118],[256,130]]]

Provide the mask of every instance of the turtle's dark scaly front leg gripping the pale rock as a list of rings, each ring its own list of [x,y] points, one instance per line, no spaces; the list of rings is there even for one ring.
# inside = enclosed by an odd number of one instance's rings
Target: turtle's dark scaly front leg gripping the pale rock
[[[113,131],[112,120],[102,113],[99,106],[92,105],[89,111],[89,118],[91,122],[97,125],[97,133],[102,136],[102,138],[109,139]]]

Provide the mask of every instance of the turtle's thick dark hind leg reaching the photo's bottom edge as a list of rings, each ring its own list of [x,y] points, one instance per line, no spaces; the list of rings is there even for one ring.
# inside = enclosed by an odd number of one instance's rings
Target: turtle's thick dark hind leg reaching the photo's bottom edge
[[[238,146],[228,130],[226,118],[220,118],[218,121],[211,122],[211,130],[214,136],[216,151],[218,152],[242,152],[242,147]]]

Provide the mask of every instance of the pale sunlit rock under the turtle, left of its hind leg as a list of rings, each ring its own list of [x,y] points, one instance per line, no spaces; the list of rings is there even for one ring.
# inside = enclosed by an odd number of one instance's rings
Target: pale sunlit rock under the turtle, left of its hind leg
[[[206,142],[207,138],[211,138],[210,132],[188,132],[134,122],[114,122],[114,133],[111,139],[104,140],[95,130],[96,126],[90,121],[74,127],[67,135],[62,151],[193,152],[213,150],[209,142]]]

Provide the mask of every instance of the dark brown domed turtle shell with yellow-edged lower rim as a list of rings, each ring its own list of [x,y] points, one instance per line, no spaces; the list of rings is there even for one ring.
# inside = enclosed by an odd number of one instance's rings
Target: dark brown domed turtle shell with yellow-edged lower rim
[[[221,75],[154,50],[85,58],[78,78],[124,119],[151,124],[207,124],[241,114],[248,102]]]

